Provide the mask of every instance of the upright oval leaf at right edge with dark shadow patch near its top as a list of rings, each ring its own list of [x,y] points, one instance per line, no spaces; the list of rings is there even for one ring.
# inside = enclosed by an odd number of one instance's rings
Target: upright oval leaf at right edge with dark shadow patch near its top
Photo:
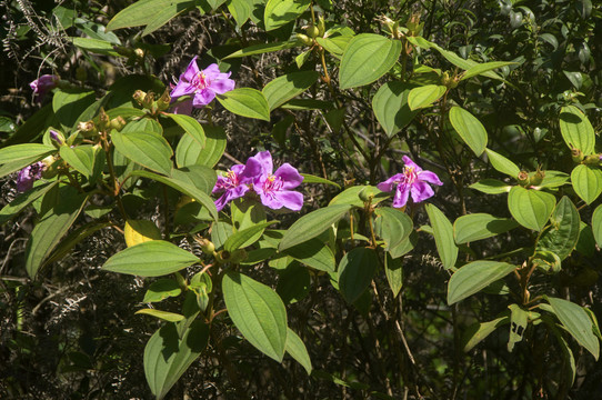
[[[569,148],[581,150],[583,156],[594,152],[595,133],[588,117],[574,106],[560,110],[560,132]]]

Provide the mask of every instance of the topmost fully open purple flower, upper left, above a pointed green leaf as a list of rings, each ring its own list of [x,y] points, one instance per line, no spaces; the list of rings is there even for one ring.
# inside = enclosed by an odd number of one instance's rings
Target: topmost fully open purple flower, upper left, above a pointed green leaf
[[[193,96],[192,106],[202,108],[209,104],[215,94],[223,94],[234,89],[234,81],[230,78],[231,72],[222,73],[218,64],[212,63],[204,70],[197,66],[197,56],[190,61],[184,73],[175,88],[171,91],[171,98]]]

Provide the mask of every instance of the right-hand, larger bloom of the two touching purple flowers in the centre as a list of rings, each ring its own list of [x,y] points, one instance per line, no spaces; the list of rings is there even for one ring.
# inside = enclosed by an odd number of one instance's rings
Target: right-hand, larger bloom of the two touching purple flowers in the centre
[[[253,157],[261,164],[261,174],[253,180],[253,190],[261,198],[261,203],[272,210],[283,207],[299,211],[303,207],[303,194],[290,189],[297,188],[303,181],[297,169],[283,163],[272,174],[272,154],[261,151]]]

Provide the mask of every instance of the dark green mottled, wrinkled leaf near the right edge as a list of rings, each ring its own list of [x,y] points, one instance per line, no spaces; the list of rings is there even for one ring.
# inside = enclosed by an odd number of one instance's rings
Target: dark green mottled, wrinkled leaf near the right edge
[[[550,217],[551,226],[543,231],[538,248],[554,252],[561,260],[571,254],[579,240],[581,219],[573,202],[564,196]]]

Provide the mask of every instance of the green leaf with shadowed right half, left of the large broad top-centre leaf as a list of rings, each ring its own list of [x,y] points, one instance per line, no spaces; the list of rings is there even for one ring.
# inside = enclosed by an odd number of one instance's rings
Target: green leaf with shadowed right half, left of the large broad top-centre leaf
[[[265,84],[262,92],[268,100],[270,110],[284,104],[290,99],[308,90],[318,81],[318,78],[320,78],[320,73],[317,71],[291,72]]]

